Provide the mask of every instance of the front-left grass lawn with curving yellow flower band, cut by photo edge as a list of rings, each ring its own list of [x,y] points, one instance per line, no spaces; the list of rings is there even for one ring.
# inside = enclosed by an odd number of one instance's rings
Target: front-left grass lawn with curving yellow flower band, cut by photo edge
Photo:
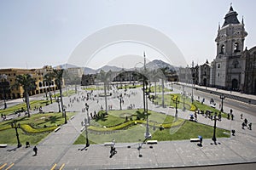
[[[75,113],[67,112],[67,119]],[[44,113],[33,114],[31,117],[20,117],[15,119],[16,123],[20,123],[18,128],[20,142],[25,144],[38,144],[50,132],[54,131],[57,126],[64,123],[62,113]],[[16,144],[17,138],[15,129],[11,127],[14,120],[0,122],[0,144]]]

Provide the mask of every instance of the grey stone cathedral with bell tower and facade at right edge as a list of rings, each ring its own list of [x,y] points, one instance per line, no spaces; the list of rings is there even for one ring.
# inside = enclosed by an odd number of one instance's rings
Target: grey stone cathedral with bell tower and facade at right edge
[[[247,49],[244,20],[237,19],[236,11],[230,10],[224,24],[218,26],[216,58],[210,66],[209,86],[256,94],[256,46]]]

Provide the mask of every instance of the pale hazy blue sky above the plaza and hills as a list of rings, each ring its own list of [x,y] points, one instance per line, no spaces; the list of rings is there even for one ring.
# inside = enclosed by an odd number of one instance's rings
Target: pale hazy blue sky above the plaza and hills
[[[186,65],[193,60],[201,65],[216,57],[218,23],[223,25],[230,3],[238,20],[244,18],[248,32],[245,47],[253,48],[253,0],[1,0],[0,68],[42,68],[71,62],[96,69],[114,59],[122,60],[119,57],[133,56],[115,63],[125,67],[134,56],[143,57],[144,52],[149,60],[175,64],[175,59],[181,59]],[[114,26],[121,26],[116,33]],[[129,29],[124,30],[127,26],[139,26],[142,30],[129,34]],[[118,37],[119,33],[126,39]],[[133,37],[136,33],[143,39]],[[160,42],[159,37],[168,40]],[[74,57],[79,48],[84,49],[79,53],[83,61]],[[172,59],[166,59],[167,55],[172,55]]]

